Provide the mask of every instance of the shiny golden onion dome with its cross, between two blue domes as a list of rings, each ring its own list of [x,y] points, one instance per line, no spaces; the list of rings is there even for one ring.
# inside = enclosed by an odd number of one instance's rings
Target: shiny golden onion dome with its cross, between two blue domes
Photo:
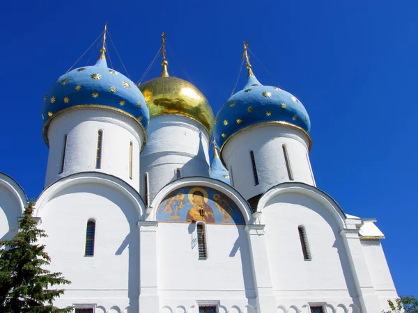
[[[211,135],[214,116],[208,99],[189,81],[169,76],[164,47],[165,34],[162,33],[161,75],[138,86],[148,104],[150,117],[164,114],[187,116],[199,122]]]

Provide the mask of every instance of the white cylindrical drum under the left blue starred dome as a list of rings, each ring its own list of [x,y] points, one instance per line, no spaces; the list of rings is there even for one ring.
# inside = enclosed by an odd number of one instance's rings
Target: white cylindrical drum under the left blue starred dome
[[[102,129],[102,165],[95,168],[98,131]],[[67,135],[63,172],[64,136]],[[114,175],[139,191],[139,153],[144,142],[142,131],[131,118],[104,109],[79,109],[52,120],[48,130],[49,157],[45,187],[77,172],[97,171]],[[129,177],[130,142],[132,179]]]

